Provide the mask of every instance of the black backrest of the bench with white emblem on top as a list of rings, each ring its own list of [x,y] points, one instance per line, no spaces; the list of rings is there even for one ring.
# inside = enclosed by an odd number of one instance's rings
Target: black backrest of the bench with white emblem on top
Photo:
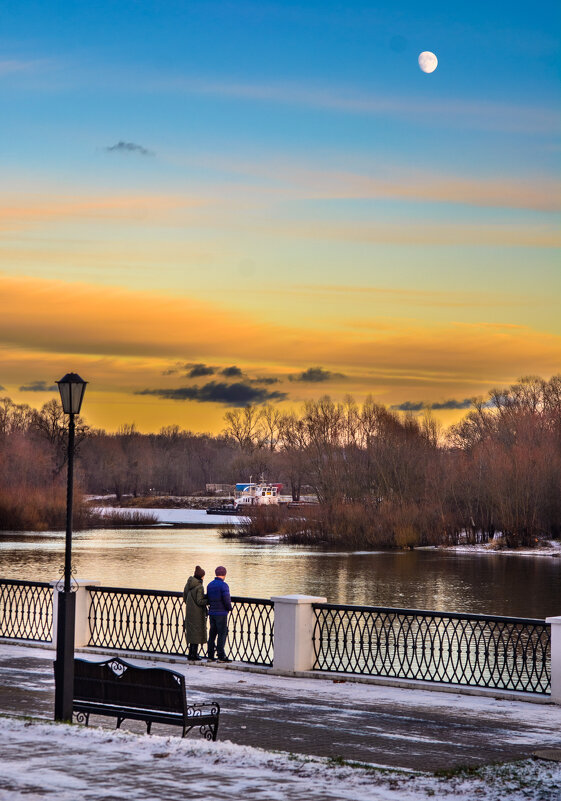
[[[74,660],[74,698],[106,704],[184,712],[185,677],[166,668],[139,668],[122,659]]]

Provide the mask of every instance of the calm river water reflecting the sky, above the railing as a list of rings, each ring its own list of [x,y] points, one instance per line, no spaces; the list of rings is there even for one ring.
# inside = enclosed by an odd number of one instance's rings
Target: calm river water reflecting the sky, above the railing
[[[60,575],[64,533],[0,535],[0,577]],[[196,564],[228,567],[235,595],[305,593],[333,603],[483,612],[561,614],[561,560],[441,551],[323,553],[223,540],[216,529],[104,530],[74,535],[80,578],[116,587],[178,590]]]

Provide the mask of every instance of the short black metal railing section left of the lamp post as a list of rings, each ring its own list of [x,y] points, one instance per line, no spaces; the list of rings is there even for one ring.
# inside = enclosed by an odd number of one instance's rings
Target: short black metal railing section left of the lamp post
[[[53,588],[48,582],[0,580],[0,637],[52,642]]]

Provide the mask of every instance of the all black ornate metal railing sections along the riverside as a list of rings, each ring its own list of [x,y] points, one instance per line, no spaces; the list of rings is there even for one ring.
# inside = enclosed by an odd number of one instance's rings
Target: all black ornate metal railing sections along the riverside
[[[185,654],[181,593],[98,586],[81,591],[87,593],[88,609],[81,644]],[[273,602],[240,597],[232,602],[229,656],[272,665]],[[543,620],[326,603],[312,607],[313,641],[303,631],[298,636],[304,637],[302,648],[313,646],[308,664],[314,670],[529,693],[551,690],[551,626]],[[50,584],[0,579],[0,638],[52,642]]]

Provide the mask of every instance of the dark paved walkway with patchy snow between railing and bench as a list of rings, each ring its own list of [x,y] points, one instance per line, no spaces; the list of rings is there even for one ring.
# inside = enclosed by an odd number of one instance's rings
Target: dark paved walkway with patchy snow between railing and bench
[[[47,649],[0,645],[0,712],[52,718],[53,658]],[[219,739],[236,744],[423,771],[561,748],[561,707],[555,705],[129,661],[184,673],[191,700],[220,703]],[[114,726],[109,719],[97,722]],[[123,726],[144,731],[132,721]],[[162,726],[153,732],[175,733]]]

